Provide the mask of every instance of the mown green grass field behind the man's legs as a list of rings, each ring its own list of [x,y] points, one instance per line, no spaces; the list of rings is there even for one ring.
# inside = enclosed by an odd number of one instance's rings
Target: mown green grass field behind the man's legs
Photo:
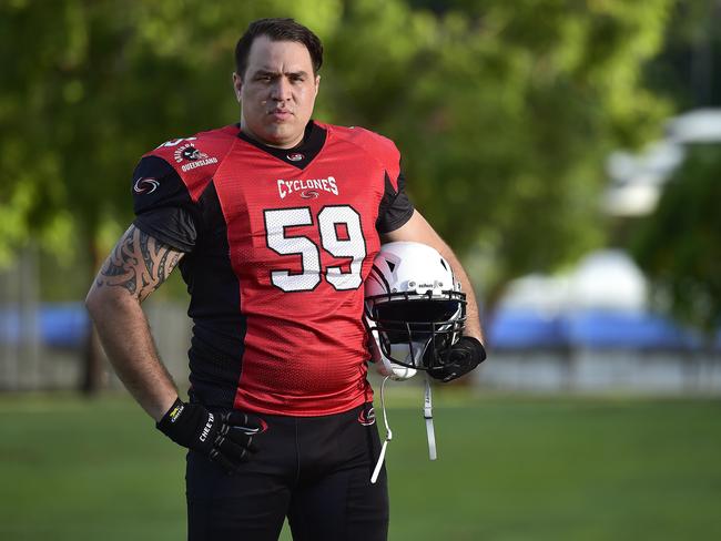
[[[721,539],[719,400],[447,390],[429,462],[390,394],[392,540]],[[128,398],[0,396],[0,540],[185,538],[183,450]]]

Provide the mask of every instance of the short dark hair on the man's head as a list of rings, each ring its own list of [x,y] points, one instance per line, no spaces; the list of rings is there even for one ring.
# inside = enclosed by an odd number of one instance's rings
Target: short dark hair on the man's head
[[[245,33],[235,45],[235,70],[242,78],[247,68],[247,55],[255,38],[267,35],[271,41],[295,41],[303,43],[311,53],[313,74],[317,74],[323,64],[323,44],[312,30],[294,19],[258,19],[251,22]]]

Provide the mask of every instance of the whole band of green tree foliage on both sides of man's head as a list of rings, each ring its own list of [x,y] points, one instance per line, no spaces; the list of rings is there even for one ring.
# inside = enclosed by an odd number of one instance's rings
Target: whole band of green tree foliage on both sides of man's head
[[[90,279],[103,227],[130,220],[139,156],[235,121],[238,34],[291,16],[326,43],[316,118],[398,143],[417,206],[461,254],[486,254],[492,304],[509,278],[602,238],[606,152],[647,139],[664,112],[639,73],[669,4],[7,1],[0,252],[34,235],[91,254]]]

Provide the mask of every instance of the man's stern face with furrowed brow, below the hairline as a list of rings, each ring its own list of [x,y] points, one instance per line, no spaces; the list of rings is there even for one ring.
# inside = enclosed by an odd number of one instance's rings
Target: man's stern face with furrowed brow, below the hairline
[[[233,74],[235,95],[243,106],[242,130],[271,146],[295,146],[313,114],[319,82],[303,43],[256,38],[245,73]]]

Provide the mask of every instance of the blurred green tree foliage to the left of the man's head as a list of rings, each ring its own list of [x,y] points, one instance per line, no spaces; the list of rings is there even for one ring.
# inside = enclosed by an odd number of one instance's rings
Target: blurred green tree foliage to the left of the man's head
[[[235,40],[283,3],[246,6],[240,14],[235,2],[0,4],[0,258],[34,237],[89,262],[79,272],[90,284],[110,248],[103,226],[131,220],[133,164],[163,141],[237,116]],[[287,11],[324,29],[334,2],[296,1]],[[91,334],[81,388],[93,392],[100,375]]]

